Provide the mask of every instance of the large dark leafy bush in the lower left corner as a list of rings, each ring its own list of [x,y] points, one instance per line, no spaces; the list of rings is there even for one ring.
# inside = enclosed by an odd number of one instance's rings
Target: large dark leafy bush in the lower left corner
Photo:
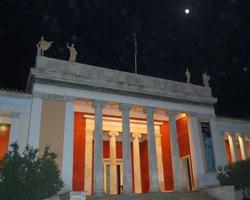
[[[63,187],[56,154],[48,146],[41,157],[38,149],[27,146],[20,155],[16,143],[11,147],[0,168],[0,199],[43,200]]]

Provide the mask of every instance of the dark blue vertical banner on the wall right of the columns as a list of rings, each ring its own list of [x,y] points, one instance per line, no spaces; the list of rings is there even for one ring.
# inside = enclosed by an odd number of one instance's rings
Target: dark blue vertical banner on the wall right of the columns
[[[214,172],[215,161],[214,161],[213,143],[212,143],[210,126],[208,122],[201,122],[200,125],[201,125],[202,140],[203,140],[207,171]]]

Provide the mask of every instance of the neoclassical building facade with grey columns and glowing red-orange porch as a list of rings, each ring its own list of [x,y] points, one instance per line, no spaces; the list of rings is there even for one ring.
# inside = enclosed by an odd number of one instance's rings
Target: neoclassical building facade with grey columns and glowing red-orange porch
[[[250,157],[250,121],[217,117],[209,87],[38,56],[26,91],[0,91],[0,159],[50,145],[73,191],[196,190]]]

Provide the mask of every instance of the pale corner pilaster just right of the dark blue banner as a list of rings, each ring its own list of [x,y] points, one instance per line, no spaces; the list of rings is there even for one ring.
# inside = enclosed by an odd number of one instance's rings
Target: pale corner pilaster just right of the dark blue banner
[[[215,164],[216,164],[215,168],[216,168],[216,170],[218,170],[219,166],[226,165],[226,162],[224,159],[224,158],[226,158],[226,152],[223,151],[226,148],[225,141],[224,141],[224,137],[223,137],[223,145],[224,146],[221,147],[221,137],[220,137],[221,135],[217,129],[215,116],[210,116],[209,125],[210,125],[210,132],[211,132],[211,136],[212,136],[213,153],[214,153],[213,155],[214,155]]]

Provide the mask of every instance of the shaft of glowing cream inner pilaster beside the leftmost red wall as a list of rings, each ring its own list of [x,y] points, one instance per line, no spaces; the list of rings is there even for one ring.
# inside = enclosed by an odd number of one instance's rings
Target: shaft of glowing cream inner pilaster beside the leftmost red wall
[[[85,142],[85,184],[84,191],[87,194],[92,192],[92,162],[93,162],[93,131],[86,130],[86,142]]]

